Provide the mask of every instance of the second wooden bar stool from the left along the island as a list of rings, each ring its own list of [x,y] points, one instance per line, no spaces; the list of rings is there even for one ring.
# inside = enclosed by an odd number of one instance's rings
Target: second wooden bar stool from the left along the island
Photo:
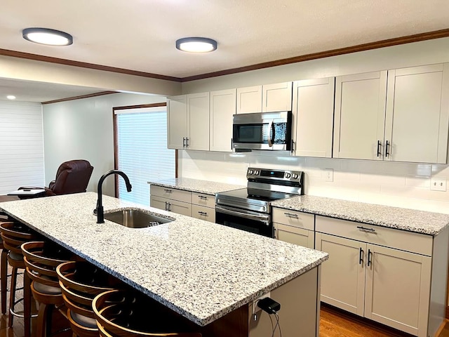
[[[39,303],[36,336],[48,336],[53,309],[64,304],[56,267],[74,259],[74,255],[53,242],[25,242],[21,249],[32,296]],[[29,319],[31,298],[25,300],[25,319]]]

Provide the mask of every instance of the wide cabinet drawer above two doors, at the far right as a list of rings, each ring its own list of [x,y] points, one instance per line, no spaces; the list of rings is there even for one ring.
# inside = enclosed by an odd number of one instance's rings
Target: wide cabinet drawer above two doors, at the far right
[[[432,255],[431,235],[406,232],[394,228],[356,223],[349,220],[316,216],[316,232],[333,234],[370,244],[379,244],[422,255]]]

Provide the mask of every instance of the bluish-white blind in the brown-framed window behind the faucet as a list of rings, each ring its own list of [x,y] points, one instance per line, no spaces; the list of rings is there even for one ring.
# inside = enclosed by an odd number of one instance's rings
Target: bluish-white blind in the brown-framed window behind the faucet
[[[175,178],[175,150],[167,149],[166,107],[115,110],[118,168],[133,190],[119,178],[119,198],[149,206],[152,179]]]

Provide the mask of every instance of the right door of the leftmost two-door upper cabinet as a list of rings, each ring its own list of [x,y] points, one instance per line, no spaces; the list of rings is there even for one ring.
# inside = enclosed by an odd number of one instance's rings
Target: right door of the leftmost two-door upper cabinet
[[[209,93],[187,95],[187,150],[209,150]]]

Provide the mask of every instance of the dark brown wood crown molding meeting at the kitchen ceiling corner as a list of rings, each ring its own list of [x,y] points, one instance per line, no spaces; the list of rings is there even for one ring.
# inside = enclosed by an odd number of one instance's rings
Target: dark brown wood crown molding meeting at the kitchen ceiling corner
[[[135,70],[126,70],[117,67],[109,67],[105,65],[95,65],[87,62],[79,62],[74,60],[65,60],[62,58],[52,58],[50,56],[36,55],[31,53],[23,53],[21,51],[9,51],[7,49],[0,49],[0,55],[11,56],[13,58],[25,58],[27,60],[37,60],[43,62],[57,63],[60,65],[71,65],[73,67],[83,67],[94,70],[103,70],[107,72],[117,72],[120,74],[129,74],[141,77],[150,77],[153,79],[165,79],[167,81],[176,81],[176,82],[187,82],[187,81],[195,81],[197,79],[208,79],[211,77],[218,77],[227,74],[236,74],[239,72],[248,72],[250,70],[258,70],[267,67],[276,67],[278,65],[288,65],[291,63],[302,62],[307,60],[315,60],[319,58],[327,58],[330,56],[343,55],[347,53],[356,53],[358,51],[368,51],[370,49],[383,48],[389,46],[396,46],[400,44],[409,44],[412,42],[425,41],[431,39],[441,39],[443,37],[449,37],[449,29],[441,29],[433,32],[426,32],[420,34],[408,35],[406,37],[396,37],[393,39],[381,40],[370,42],[368,44],[359,44],[357,46],[349,46],[344,48],[333,49],[330,51],[323,51],[319,53],[312,53],[307,55],[295,56],[293,58],[284,58],[282,60],[275,60],[270,62],[258,63],[256,65],[248,65],[245,67],[238,67],[229,70],[222,70],[218,72],[210,72],[207,74],[199,74],[195,76],[189,77],[170,77],[161,74],[152,74],[148,72],[138,72]]]

